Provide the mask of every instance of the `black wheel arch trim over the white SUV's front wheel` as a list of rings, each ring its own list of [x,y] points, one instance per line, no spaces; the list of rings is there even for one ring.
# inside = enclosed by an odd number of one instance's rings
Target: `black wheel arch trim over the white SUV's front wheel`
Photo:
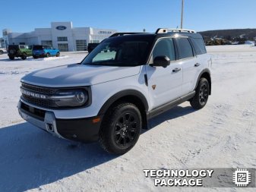
[[[142,127],[147,128],[147,111],[148,111],[147,99],[143,95],[143,93],[137,90],[123,90],[123,91],[120,91],[119,93],[115,93],[104,103],[98,115],[106,114],[106,112],[118,102],[131,102],[134,105],[136,105],[141,112],[141,117],[143,121]]]

